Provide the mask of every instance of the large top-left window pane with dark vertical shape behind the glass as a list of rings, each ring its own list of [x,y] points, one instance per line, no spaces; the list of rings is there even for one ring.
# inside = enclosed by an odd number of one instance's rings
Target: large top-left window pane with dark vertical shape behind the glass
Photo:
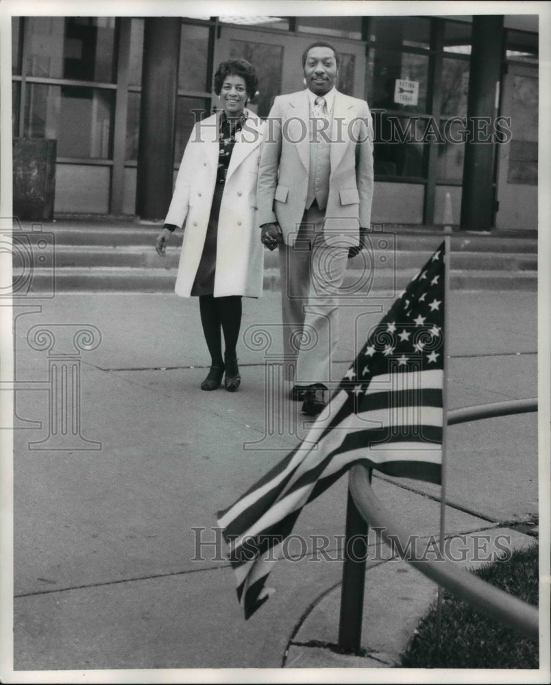
[[[112,83],[114,17],[29,17],[32,76]]]

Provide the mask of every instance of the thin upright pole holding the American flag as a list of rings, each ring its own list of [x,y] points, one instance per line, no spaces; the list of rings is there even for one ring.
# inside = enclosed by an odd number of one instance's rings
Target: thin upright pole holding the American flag
[[[448,341],[450,340],[449,332],[450,325],[449,311],[450,311],[450,263],[452,257],[451,249],[451,233],[452,227],[450,225],[444,226],[444,325],[443,325],[443,379],[442,379],[442,471],[441,471],[441,486],[440,486],[440,535],[439,535],[439,550],[441,556],[444,553],[444,536],[445,536],[445,497],[446,497],[446,451],[448,449]],[[437,615],[436,615],[436,637],[437,645],[441,643],[441,627],[442,627],[442,593],[443,588],[438,586],[437,597]]]

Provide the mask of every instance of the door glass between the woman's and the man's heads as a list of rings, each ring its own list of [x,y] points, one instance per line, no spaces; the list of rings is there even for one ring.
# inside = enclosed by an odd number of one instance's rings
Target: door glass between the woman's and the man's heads
[[[230,58],[239,57],[251,62],[258,73],[258,95],[252,104],[256,105],[258,116],[265,119],[273,100],[281,92],[283,47],[249,40],[231,40]]]

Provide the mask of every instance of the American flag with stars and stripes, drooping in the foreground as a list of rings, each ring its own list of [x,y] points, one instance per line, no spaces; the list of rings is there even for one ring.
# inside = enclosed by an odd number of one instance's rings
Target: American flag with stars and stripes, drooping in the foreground
[[[393,476],[441,479],[444,245],[376,325],[306,438],[218,523],[245,619],[302,507],[361,462]]]

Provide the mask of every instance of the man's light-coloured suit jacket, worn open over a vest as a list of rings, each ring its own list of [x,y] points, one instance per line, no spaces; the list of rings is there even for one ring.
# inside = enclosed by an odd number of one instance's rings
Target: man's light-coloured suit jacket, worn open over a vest
[[[279,223],[293,245],[302,221],[310,169],[308,90],[276,97],[262,142],[258,223]],[[323,235],[327,245],[358,245],[373,198],[373,128],[367,102],[336,92],[330,132],[330,179]],[[345,236],[343,240],[343,236]]]

